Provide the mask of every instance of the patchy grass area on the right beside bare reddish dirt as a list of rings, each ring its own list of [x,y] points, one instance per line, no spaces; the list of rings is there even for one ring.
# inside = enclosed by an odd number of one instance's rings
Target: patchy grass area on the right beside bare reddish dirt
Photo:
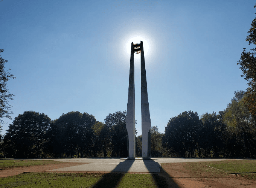
[[[213,167],[207,167],[207,166]],[[212,172],[213,174],[227,175],[231,173],[241,173],[240,176],[245,176],[248,179],[256,180],[256,160],[224,160],[224,161],[210,161],[186,163],[186,169],[198,172]],[[219,170],[222,171],[219,171]]]

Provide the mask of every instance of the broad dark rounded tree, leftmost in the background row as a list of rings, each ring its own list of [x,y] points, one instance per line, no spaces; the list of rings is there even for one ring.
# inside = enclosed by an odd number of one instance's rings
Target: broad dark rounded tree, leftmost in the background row
[[[44,113],[25,111],[19,114],[3,139],[7,157],[44,157],[44,143],[51,119]]]

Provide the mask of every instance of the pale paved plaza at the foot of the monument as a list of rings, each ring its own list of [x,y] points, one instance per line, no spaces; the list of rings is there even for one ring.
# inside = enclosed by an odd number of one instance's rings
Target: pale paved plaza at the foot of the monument
[[[71,167],[53,169],[50,171],[84,171],[84,172],[149,172],[160,173],[161,163],[186,163],[202,161],[221,161],[226,159],[207,158],[152,158],[151,160],[126,160],[123,158],[63,158],[37,159],[54,160],[73,163],[88,163]]]

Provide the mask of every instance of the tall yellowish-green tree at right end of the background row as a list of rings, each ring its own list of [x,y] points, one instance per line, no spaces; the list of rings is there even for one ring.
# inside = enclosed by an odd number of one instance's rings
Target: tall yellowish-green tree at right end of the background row
[[[223,122],[229,132],[231,157],[252,157],[255,152],[255,125],[247,105],[247,93],[235,91],[235,97],[227,105]]]

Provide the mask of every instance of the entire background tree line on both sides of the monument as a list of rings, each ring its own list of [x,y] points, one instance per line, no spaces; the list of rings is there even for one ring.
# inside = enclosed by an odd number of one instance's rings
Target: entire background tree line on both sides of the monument
[[[256,157],[256,121],[245,91],[235,91],[218,114],[185,111],[169,119],[165,133],[152,126],[151,157]],[[88,113],[69,112],[51,120],[25,111],[9,125],[0,157],[127,157],[126,111],[109,113],[103,122]],[[136,137],[142,157],[142,135]]]

